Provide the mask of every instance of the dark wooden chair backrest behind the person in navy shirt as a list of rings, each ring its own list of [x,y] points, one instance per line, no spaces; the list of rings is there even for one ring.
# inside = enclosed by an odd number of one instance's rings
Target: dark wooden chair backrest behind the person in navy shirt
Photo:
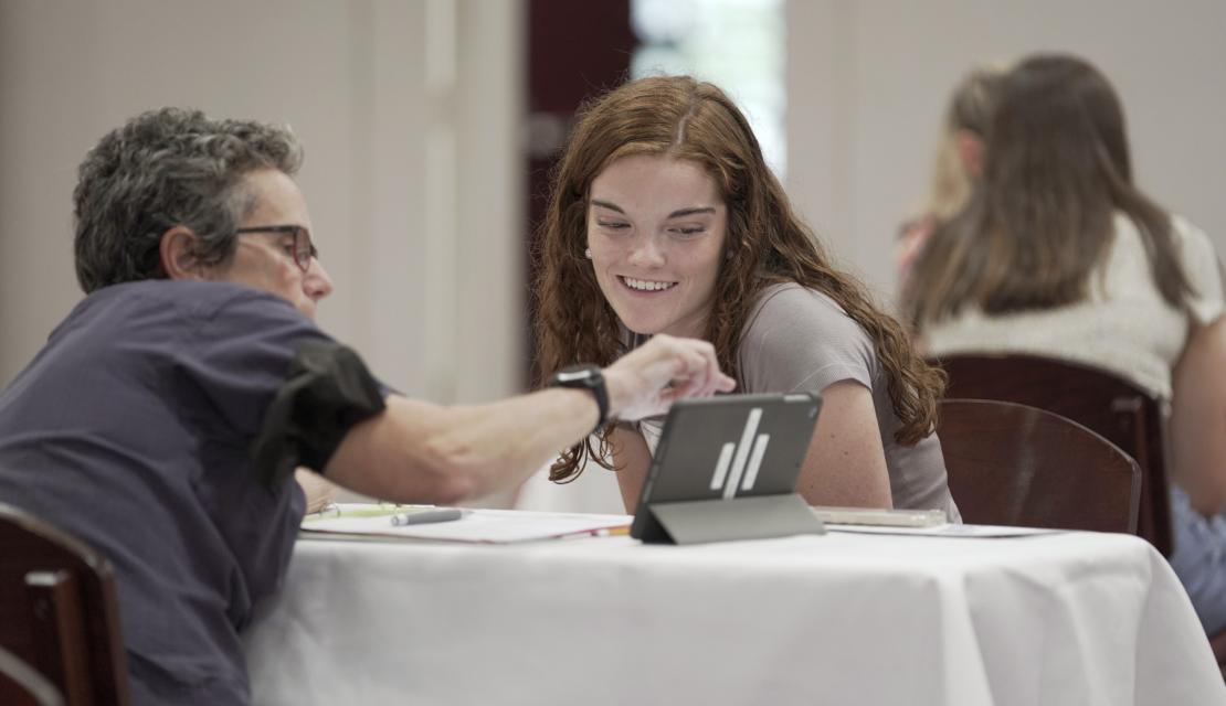
[[[110,564],[2,503],[0,645],[54,684],[66,704],[129,702]]]

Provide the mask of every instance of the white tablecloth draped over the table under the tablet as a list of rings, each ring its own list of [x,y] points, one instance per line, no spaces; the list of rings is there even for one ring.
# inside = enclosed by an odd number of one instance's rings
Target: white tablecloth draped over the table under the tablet
[[[256,704],[1226,704],[1145,542],[300,541]]]

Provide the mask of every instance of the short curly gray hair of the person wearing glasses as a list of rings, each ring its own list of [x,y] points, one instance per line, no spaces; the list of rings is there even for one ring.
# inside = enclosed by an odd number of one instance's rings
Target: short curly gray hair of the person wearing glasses
[[[288,128],[211,120],[163,108],[113,130],[89,150],[72,192],[76,275],[86,294],[161,279],[158,243],[175,225],[200,237],[206,263],[229,259],[234,230],[255,206],[243,177],[257,169],[293,176],[303,152]]]

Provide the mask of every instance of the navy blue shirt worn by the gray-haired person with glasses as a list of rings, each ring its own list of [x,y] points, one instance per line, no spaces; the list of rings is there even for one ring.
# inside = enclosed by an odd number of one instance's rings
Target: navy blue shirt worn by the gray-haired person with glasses
[[[108,286],[0,394],[0,502],[114,564],[136,704],[250,700],[238,635],[284,576],[303,496],[257,482],[249,453],[311,339],[240,285]]]

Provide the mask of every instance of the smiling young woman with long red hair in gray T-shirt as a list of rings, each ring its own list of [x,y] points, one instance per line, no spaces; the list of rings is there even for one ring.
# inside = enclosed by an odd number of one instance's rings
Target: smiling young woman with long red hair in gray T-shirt
[[[747,393],[820,393],[797,491],[819,505],[935,508],[960,520],[933,433],[943,373],[836,269],[728,97],[689,77],[628,83],[581,114],[538,252],[542,367],[609,363],[662,334],[711,341]],[[563,453],[615,465],[626,508],[661,420]],[[609,459],[612,454],[612,459]]]

